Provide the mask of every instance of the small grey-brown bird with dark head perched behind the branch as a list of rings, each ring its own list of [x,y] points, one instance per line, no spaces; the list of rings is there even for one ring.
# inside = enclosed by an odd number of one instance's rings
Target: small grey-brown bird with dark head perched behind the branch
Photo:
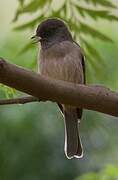
[[[32,37],[40,43],[38,63],[40,74],[74,84],[85,84],[85,59],[80,45],[73,40],[65,21],[59,18],[43,20]],[[79,135],[81,108],[58,104],[65,125],[64,151],[68,159],[82,158],[83,147]]]

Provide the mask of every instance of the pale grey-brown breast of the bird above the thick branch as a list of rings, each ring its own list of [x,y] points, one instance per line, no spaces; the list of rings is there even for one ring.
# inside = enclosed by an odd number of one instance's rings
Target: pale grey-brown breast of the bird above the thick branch
[[[83,83],[81,58],[80,47],[72,42],[64,41],[41,50],[39,70],[46,77]]]

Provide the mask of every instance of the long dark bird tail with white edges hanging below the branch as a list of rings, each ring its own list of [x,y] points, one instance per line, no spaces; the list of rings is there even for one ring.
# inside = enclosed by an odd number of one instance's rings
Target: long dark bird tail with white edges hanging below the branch
[[[65,154],[68,159],[83,157],[77,111],[65,111]]]

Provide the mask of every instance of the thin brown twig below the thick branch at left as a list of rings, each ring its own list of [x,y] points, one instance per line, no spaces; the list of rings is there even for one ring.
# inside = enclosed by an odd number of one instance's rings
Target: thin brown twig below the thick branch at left
[[[20,97],[14,99],[1,99],[0,105],[8,105],[8,104],[26,104],[31,102],[39,101],[38,98],[33,96]]]

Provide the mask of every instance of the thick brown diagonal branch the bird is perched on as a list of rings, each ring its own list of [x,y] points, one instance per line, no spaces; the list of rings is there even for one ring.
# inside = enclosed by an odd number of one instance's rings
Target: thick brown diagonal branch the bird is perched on
[[[85,86],[49,79],[0,61],[0,82],[38,99],[70,104],[118,116],[118,93],[102,86]]]

